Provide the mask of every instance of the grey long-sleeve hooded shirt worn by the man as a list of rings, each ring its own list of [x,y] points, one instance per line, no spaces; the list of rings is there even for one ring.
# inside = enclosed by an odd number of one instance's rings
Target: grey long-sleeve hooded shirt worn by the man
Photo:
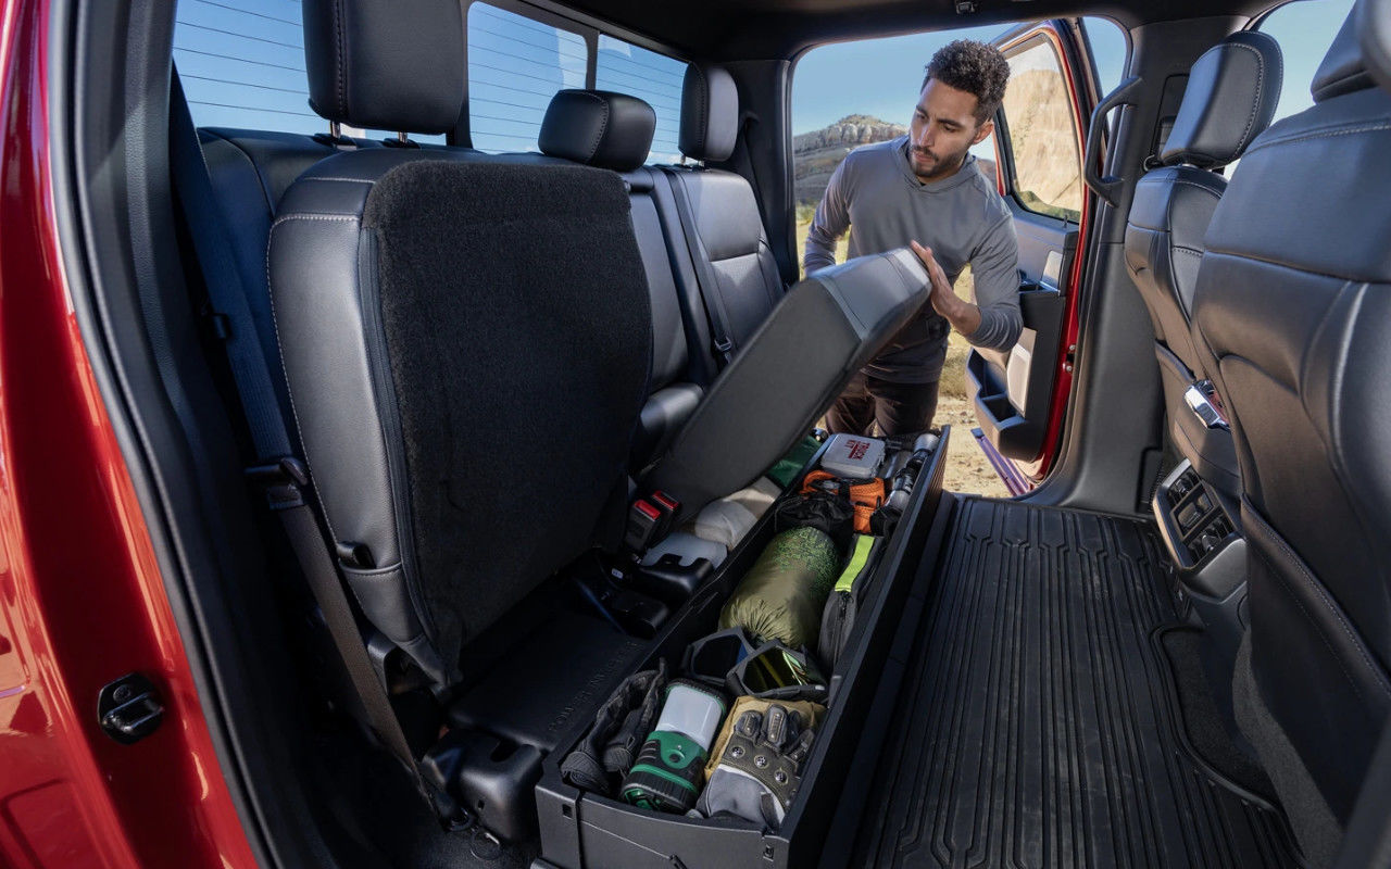
[[[917,241],[953,284],[971,264],[981,325],[967,335],[979,346],[1014,346],[1020,317],[1018,239],[1004,200],[967,156],[954,175],[922,184],[908,164],[908,138],[865,145],[840,163],[807,235],[807,274],[835,263],[836,239],[850,232],[850,256],[882,253]],[[928,304],[865,370],[894,382],[938,380],[946,362],[946,318]]]

